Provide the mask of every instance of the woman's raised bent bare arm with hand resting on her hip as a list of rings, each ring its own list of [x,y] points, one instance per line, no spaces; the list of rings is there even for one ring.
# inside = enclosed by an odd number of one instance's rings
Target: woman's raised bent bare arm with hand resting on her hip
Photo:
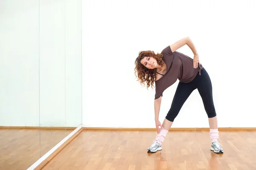
[[[175,52],[177,49],[179,49],[180,47],[182,47],[184,45],[189,46],[189,48],[194,53],[194,59],[193,59],[193,61],[194,61],[194,68],[198,68],[198,63],[200,64],[199,55],[198,55],[198,52],[197,52],[197,50],[195,48],[195,45],[192,42],[192,40],[190,39],[190,37],[185,37],[185,38],[182,38],[182,39],[178,40],[177,42],[175,42],[172,45],[170,45],[170,48],[171,48],[172,52]]]

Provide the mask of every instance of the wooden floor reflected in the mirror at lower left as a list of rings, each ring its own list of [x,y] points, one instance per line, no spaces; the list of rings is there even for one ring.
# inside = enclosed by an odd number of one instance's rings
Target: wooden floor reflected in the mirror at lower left
[[[0,170],[26,170],[72,131],[0,129]]]

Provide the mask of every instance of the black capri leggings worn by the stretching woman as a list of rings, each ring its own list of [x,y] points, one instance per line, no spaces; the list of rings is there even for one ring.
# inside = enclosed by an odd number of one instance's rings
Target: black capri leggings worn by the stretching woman
[[[174,121],[180,112],[181,107],[195,89],[198,89],[198,92],[201,95],[204,103],[204,109],[208,115],[208,118],[213,118],[216,116],[212,99],[212,83],[207,71],[203,68],[201,70],[201,75],[198,73],[193,81],[189,83],[179,82],[172,100],[171,108],[166,115],[167,120],[172,122]]]

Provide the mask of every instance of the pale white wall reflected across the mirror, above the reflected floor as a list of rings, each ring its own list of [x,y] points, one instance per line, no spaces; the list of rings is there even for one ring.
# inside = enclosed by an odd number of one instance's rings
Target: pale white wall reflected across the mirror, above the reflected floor
[[[0,126],[79,126],[81,0],[1,1],[0,39]]]

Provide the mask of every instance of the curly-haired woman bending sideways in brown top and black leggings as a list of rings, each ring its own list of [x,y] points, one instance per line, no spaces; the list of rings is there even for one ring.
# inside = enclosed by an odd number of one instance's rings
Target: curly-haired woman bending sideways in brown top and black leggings
[[[194,53],[194,58],[177,52],[180,47],[188,45]],[[218,142],[218,125],[215,107],[212,99],[212,84],[207,74],[199,61],[198,52],[189,37],[178,40],[170,46],[167,46],[160,54],[155,54],[153,51],[142,51],[135,61],[135,73],[137,72],[138,81],[141,84],[147,84],[153,87],[155,83],[155,98],[154,98],[154,112],[155,125],[157,128],[157,136],[153,144],[148,147],[149,153],[162,150],[162,143],[172,126],[172,123],[186,99],[193,92],[198,89],[199,94],[204,103],[209,119],[209,138],[211,140],[210,150],[215,153],[223,153],[221,144]],[[160,104],[163,92],[169,86],[174,84],[177,79],[179,84],[177,86],[171,108],[166,115],[166,118],[161,125],[158,120],[160,112]],[[159,129],[159,126],[161,127]]]

